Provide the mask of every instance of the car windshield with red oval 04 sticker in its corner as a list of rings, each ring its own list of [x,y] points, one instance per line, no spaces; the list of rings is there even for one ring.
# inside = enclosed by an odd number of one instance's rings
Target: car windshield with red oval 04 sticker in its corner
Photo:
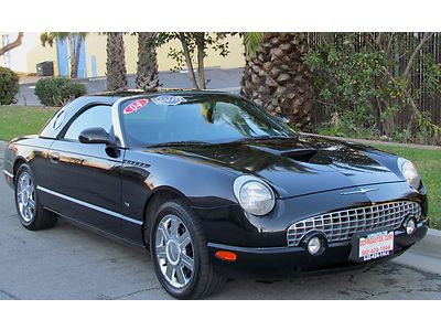
[[[295,135],[252,103],[226,95],[139,97],[122,103],[120,113],[130,146],[223,143]]]

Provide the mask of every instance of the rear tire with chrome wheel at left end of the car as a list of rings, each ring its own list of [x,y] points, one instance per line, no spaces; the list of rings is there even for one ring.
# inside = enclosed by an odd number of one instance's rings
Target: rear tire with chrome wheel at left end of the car
[[[17,171],[14,186],[17,212],[25,228],[44,229],[56,224],[56,215],[40,204],[36,181],[26,163]]]

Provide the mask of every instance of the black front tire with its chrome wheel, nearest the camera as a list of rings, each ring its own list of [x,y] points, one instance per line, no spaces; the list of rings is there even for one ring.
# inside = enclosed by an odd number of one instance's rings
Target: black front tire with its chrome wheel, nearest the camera
[[[222,287],[225,277],[209,260],[197,215],[182,200],[163,203],[157,211],[150,252],[162,287],[178,299],[198,299]]]

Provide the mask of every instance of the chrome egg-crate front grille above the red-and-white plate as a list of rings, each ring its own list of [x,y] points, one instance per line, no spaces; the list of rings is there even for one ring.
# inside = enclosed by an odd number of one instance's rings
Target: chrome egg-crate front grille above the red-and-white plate
[[[298,246],[302,237],[312,231],[323,232],[327,242],[351,239],[354,233],[398,228],[408,214],[421,216],[421,207],[416,202],[398,201],[364,206],[313,216],[292,224],[288,228],[288,246]]]

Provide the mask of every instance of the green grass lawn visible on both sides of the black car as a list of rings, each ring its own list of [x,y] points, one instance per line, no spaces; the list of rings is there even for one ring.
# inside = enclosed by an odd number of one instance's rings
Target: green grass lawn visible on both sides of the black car
[[[37,134],[55,111],[56,108],[47,107],[0,106],[0,140]],[[441,229],[441,151],[384,145],[375,147],[413,162],[429,194],[431,226]]]

